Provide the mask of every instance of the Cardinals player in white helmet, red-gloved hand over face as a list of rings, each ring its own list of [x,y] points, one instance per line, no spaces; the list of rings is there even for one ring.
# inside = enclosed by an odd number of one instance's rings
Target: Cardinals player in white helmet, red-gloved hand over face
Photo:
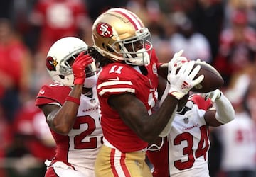
[[[48,51],[46,67],[53,84],[43,85],[36,97],[56,142],[55,157],[46,161],[46,177],[94,176],[102,129],[89,50],[79,38],[66,37]]]

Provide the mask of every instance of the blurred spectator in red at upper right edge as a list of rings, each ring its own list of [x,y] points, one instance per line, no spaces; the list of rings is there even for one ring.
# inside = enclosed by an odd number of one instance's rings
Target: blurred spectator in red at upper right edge
[[[255,62],[256,31],[247,23],[244,11],[233,13],[232,26],[223,29],[220,35],[218,56],[213,63],[222,74],[225,86],[231,77]]]

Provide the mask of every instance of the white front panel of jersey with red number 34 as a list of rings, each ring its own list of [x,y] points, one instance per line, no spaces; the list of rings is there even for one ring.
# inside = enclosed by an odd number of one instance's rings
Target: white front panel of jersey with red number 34
[[[188,101],[181,113],[177,113],[169,133],[170,176],[207,177],[208,127],[204,120],[206,111]]]

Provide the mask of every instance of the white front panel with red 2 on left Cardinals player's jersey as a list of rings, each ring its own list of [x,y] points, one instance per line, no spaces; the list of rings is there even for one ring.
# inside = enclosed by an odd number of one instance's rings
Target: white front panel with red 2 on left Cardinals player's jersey
[[[103,135],[100,128],[98,104],[95,99],[81,95],[78,120],[68,133],[69,163],[79,171],[82,171],[84,167],[94,170],[95,158],[101,147]]]

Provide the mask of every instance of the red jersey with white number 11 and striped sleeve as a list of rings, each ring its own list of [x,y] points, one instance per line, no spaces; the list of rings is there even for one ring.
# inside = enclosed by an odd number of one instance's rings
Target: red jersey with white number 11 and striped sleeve
[[[140,139],[128,127],[116,110],[107,103],[114,94],[133,93],[144,103],[149,115],[157,101],[157,62],[154,53],[150,64],[146,66],[147,74],[143,75],[138,66],[114,62],[102,68],[97,81],[97,93],[100,101],[101,125],[103,135],[110,144],[121,152],[134,152],[147,147],[148,143]]]

